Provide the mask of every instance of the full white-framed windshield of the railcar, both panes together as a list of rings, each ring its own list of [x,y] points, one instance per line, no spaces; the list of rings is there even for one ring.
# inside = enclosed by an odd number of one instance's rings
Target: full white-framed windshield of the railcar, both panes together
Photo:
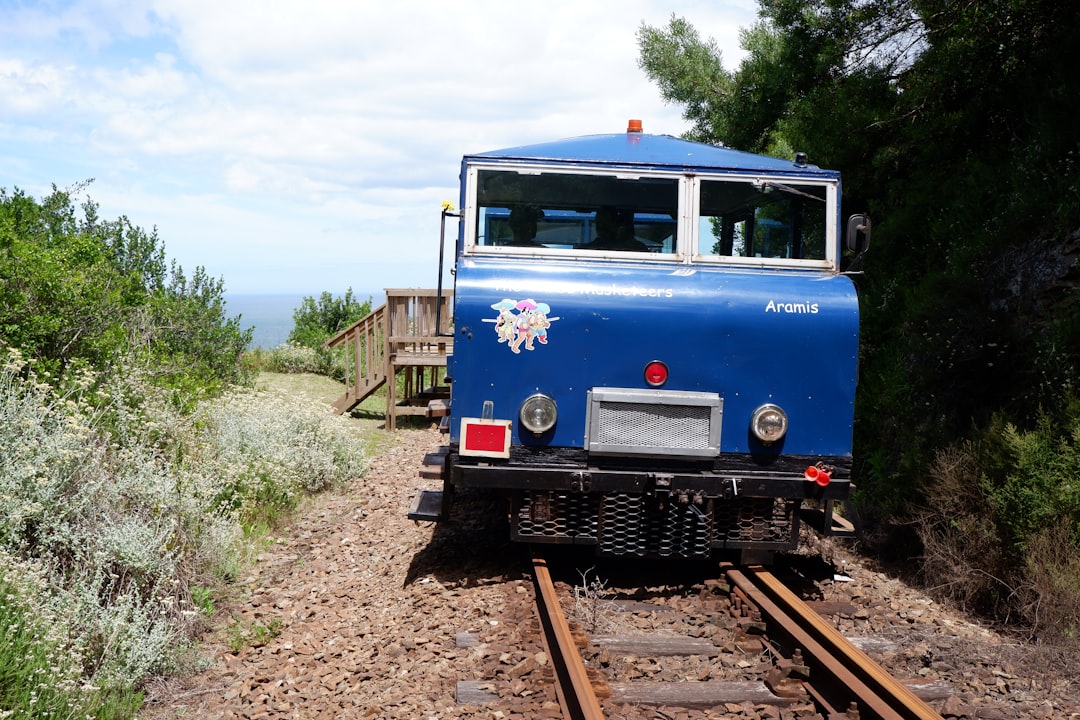
[[[469,245],[478,250],[818,268],[835,262],[827,239],[836,235],[837,186],[827,180],[536,166],[473,173]]]

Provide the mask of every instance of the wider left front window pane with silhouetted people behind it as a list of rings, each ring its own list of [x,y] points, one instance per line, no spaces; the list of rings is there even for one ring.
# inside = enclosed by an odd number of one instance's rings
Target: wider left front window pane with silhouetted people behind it
[[[480,169],[475,244],[674,256],[677,177]]]

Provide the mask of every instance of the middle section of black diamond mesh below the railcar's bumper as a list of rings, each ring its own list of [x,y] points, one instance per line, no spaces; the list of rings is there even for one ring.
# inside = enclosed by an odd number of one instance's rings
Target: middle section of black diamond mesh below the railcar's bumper
[[[600,504],[604,555],[703,557],[712,552],[711,512],[659,504],[642,495],[607,495]]]

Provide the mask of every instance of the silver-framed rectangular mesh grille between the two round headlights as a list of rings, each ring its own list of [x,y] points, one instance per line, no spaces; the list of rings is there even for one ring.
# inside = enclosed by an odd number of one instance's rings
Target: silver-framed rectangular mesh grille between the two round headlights
[[[588,447],[611,454],[711,457],[719,451],[715,393],[597,388],[590,392]]]

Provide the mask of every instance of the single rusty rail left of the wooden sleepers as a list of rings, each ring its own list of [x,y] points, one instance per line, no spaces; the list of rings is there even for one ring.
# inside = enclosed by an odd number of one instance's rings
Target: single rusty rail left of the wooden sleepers
[[[532,581],[536,584],[537,612],[543,628],[544,647],[555,669],[555,691],[567,720],[604,720],[599,701],[585,673],[581,653],[570,634],[566,615],[558,604],[548,561],[532,551]]]

